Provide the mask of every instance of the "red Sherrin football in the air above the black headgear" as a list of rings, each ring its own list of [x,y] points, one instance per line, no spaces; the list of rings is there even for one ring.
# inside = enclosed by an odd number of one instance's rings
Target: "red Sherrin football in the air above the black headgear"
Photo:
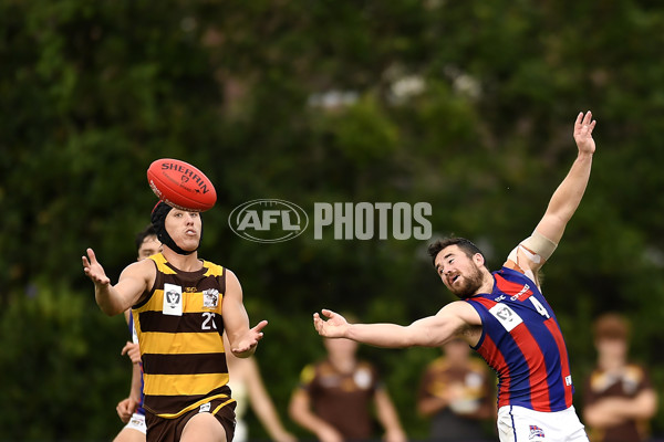
[[[176,209],[205,212],[217,202],[212,181],[199,169],[179,159],[153,161],[147,168],[147,182],[160,200]]]

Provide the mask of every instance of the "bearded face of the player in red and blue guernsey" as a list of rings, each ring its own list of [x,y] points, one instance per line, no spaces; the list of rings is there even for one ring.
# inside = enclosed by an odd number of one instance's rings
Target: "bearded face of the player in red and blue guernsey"
[[[478,263],[458,245],[443,249],[435,263],[443,284],[461,299],[475,295],[481,287],[484,277]]]

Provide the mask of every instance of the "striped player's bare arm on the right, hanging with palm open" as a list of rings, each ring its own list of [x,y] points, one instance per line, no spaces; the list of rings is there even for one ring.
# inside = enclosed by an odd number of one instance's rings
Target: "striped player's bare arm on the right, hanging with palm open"
[[[224,294],[224,326],[230,350],[239,358],[247,358],[256,351],[258,341],[262,339],[262,329],[268,325],[261,320],[253,328],[249,328],[249,316],[242,304],[242,287],[238,277],[226,270],[226,293]]]

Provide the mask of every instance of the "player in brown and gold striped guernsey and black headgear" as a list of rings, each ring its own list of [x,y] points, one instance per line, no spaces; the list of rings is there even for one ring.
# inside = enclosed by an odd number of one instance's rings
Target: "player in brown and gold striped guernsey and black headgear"
[[[199,212],[159,202],[152,223],[163,251],[125,267],[115,285],[94,251],[83,256],[95,299],[107,315],[132,308],[143,361],[147,442],[230,442],[235,399],[226,351],[251,356],[262,329],[250,327],[237,276],[198,257]],[[226,330],[230,348],[221,338]]]

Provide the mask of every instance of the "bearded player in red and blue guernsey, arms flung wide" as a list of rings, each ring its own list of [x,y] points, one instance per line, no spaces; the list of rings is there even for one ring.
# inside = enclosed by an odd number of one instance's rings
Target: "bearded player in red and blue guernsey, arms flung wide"
[[[573,136],[579,149],[533,233],[521,241],[499,271],[463,238],[429,245],[436,272],[460,301],[408,326],[349,324],[323,309],[313,315],[321,336],[380,347],[438,347],[453,338],[468,343],[496,370],[501,442],[588,442],[572,406],[568,351],[558,320],[542,296],[538,271],[551,256],[583,197],[595,143],[592,114],[580,113]]]

